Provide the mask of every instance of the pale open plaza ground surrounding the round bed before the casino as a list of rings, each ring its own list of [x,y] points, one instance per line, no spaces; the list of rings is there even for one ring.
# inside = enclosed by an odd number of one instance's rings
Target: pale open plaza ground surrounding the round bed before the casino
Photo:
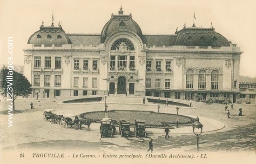
[[[157,112],[157,104],[142,104],[143,97],[107,97],[108,110],[142,110]],[[164,98],[162,98],[164,99]],[[13,126],[8,128],[7,115],[0,115],[0,145],[4,151],[13,150],[83,150],[95,152],[144,152],[148,149],[148,141],[153,138],[154,153],[195,152],[196,137],[192,126],[170,129],[170,138],[164,138],[163,129],[146,128],[147,138],[100,138],[99,123],[92,123],[91,131],[86,127],[82,130],[65,129],[59,124],[51,124],[43,119],[44,109],[54,109],[56,114],[74,116],[84,112],[103,111],[105,100],[100,102],[63,104],[64,99],[18,98],[15,101],[16,110]],[[171,100],[171,99],[169,99]],[[179,100],[183,103],[189,101]],[[34,109],[30,110],[33,102]],[[1,98],[1,111],[7,110],[8,103]],[[235,104],[227,118],[222,104],[205,105],[193,102],[192,107],[180,107],[179,114],[200,119],[203,132],[199,138],[200,151],[203,153],[255,153],[255,105]],[[238,109],[243,108],[243,116],[238,116]],[[176,106],[164,104],[160,112],[176,114]],[[104,117],[104,116],[102,116]],[[125,118],[125,116],[124,116]],[[147,121],[147,120],[146,120]],[[133,120],[131,120],[133,122]],[[117,128],[118,129],[118,128]],[[131,128],[133,131],[133,128]],[[117,130],[118,131],[118,130]],[[54,148],[54,149],[53,149]]]

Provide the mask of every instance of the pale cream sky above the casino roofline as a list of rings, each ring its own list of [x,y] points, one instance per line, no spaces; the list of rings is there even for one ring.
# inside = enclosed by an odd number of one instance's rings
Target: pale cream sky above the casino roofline
[[[8,63],[8,38],[13,37],[13,64],[24,64],[22,48],[44,26],[61,22],[66,33],[101,33],[111,14],[124,14],[142,33],[174,34],[177,26],[212,26],[241,47],[240,75],[256,77],[255,0],[0,0],[0,64]]]

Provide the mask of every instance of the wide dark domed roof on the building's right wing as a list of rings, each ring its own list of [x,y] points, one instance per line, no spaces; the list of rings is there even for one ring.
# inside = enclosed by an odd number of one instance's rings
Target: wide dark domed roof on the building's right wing
[[[228,39],[222,36],[220,33],[216,33],[214,28],[199,28],[192,27],[177,31],[178,35],[175,45],[177,46],[230,46]]]

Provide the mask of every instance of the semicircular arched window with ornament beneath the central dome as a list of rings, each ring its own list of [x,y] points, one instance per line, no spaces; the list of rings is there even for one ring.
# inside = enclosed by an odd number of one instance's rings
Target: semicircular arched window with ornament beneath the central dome
[[[112,45],[111,50],[130,50],[134,51],[134,46],[132,42],[130,42],[128,39],[118,39],[115,41],[115,43]]]

